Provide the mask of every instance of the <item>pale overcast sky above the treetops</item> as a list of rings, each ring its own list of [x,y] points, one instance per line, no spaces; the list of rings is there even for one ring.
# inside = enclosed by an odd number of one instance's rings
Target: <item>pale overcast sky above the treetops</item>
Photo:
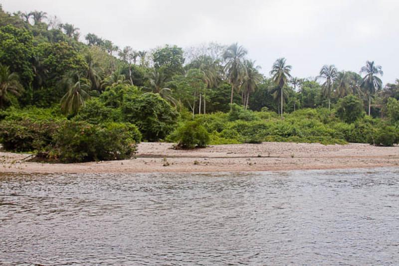
[[[238,42],[262,72],[286,57],[298,77],[324,64],[358,72],[366,60],[399,78],[399,0],[1,0],[5,11],[42,10],[118,46],[151,49]],[[82,38],[83,39],[83,38]]]

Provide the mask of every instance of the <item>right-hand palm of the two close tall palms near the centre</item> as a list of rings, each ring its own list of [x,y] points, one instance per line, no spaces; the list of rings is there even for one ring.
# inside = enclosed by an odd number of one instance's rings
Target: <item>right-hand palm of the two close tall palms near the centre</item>
[[[259,73],[259,66],[255,66],[255,61],[245,60],[245,76],[241,88],[243,90],[243,104],[245,110],[248,108],[249,94],[257,88],[258,84],[263,80],[263,75]]]

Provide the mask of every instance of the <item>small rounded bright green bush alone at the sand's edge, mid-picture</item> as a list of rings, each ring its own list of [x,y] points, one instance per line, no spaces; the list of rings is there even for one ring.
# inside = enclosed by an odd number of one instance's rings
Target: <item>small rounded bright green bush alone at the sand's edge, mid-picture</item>
[[[177,142],[177,147],[202,148],[209,144],[209,133],[199,123],[199,121],[187,121],[182,124],[173,134],[173,139]]]

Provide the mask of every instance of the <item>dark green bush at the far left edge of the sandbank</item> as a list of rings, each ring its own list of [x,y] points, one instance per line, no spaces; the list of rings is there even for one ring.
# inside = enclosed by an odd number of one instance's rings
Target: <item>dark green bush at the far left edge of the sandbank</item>
[[[3,120],[0,123],[0,141],[7,151],[39,151],[52,144],[58,128],[59,122],[53,120]]]

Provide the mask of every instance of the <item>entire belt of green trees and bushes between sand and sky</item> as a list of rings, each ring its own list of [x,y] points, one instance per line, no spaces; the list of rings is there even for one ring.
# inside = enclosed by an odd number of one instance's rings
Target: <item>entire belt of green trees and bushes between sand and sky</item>
[[[360,74],[325,65],[306,79],[278,58],[268,78],[237,43],[136,51],[94,33],[84,39],[45,12],[0,7],[6,150],[82,162],[129,158],[141,140],[399,142],[399,80],[383,86],[374,61]]]

